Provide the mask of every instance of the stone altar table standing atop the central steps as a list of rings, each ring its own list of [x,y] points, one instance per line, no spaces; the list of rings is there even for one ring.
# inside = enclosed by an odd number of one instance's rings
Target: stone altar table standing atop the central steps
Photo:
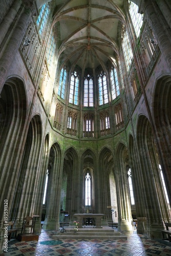
[[[101,217],[105,216],[104,214],[74,214],[77,218],[78,227],[82,228],[82,219],[83,218],[95,218],[96,219],[96,228],[102,228],[101,226]]]

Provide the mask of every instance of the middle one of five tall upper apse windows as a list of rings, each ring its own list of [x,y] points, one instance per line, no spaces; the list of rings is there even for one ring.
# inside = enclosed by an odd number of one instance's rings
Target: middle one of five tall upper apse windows
[[[84,106],[93,106],[93,77],[84,77]]]

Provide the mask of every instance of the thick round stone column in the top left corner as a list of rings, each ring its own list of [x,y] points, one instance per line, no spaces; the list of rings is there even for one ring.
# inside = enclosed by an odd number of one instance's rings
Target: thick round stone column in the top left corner
[[[28,27],[29,19],[32,15],[33,1],[34,0],[23,1],[24,2],[23,13],[18,18],[16,27],[13,30],[13,33],[9,38],[9,41],[6,44],[5,50],[0,59],[0,93],[7,79],[8,70],[12,65],[13,59],[18,51],[20,43],[22,42],[22,39]]]

